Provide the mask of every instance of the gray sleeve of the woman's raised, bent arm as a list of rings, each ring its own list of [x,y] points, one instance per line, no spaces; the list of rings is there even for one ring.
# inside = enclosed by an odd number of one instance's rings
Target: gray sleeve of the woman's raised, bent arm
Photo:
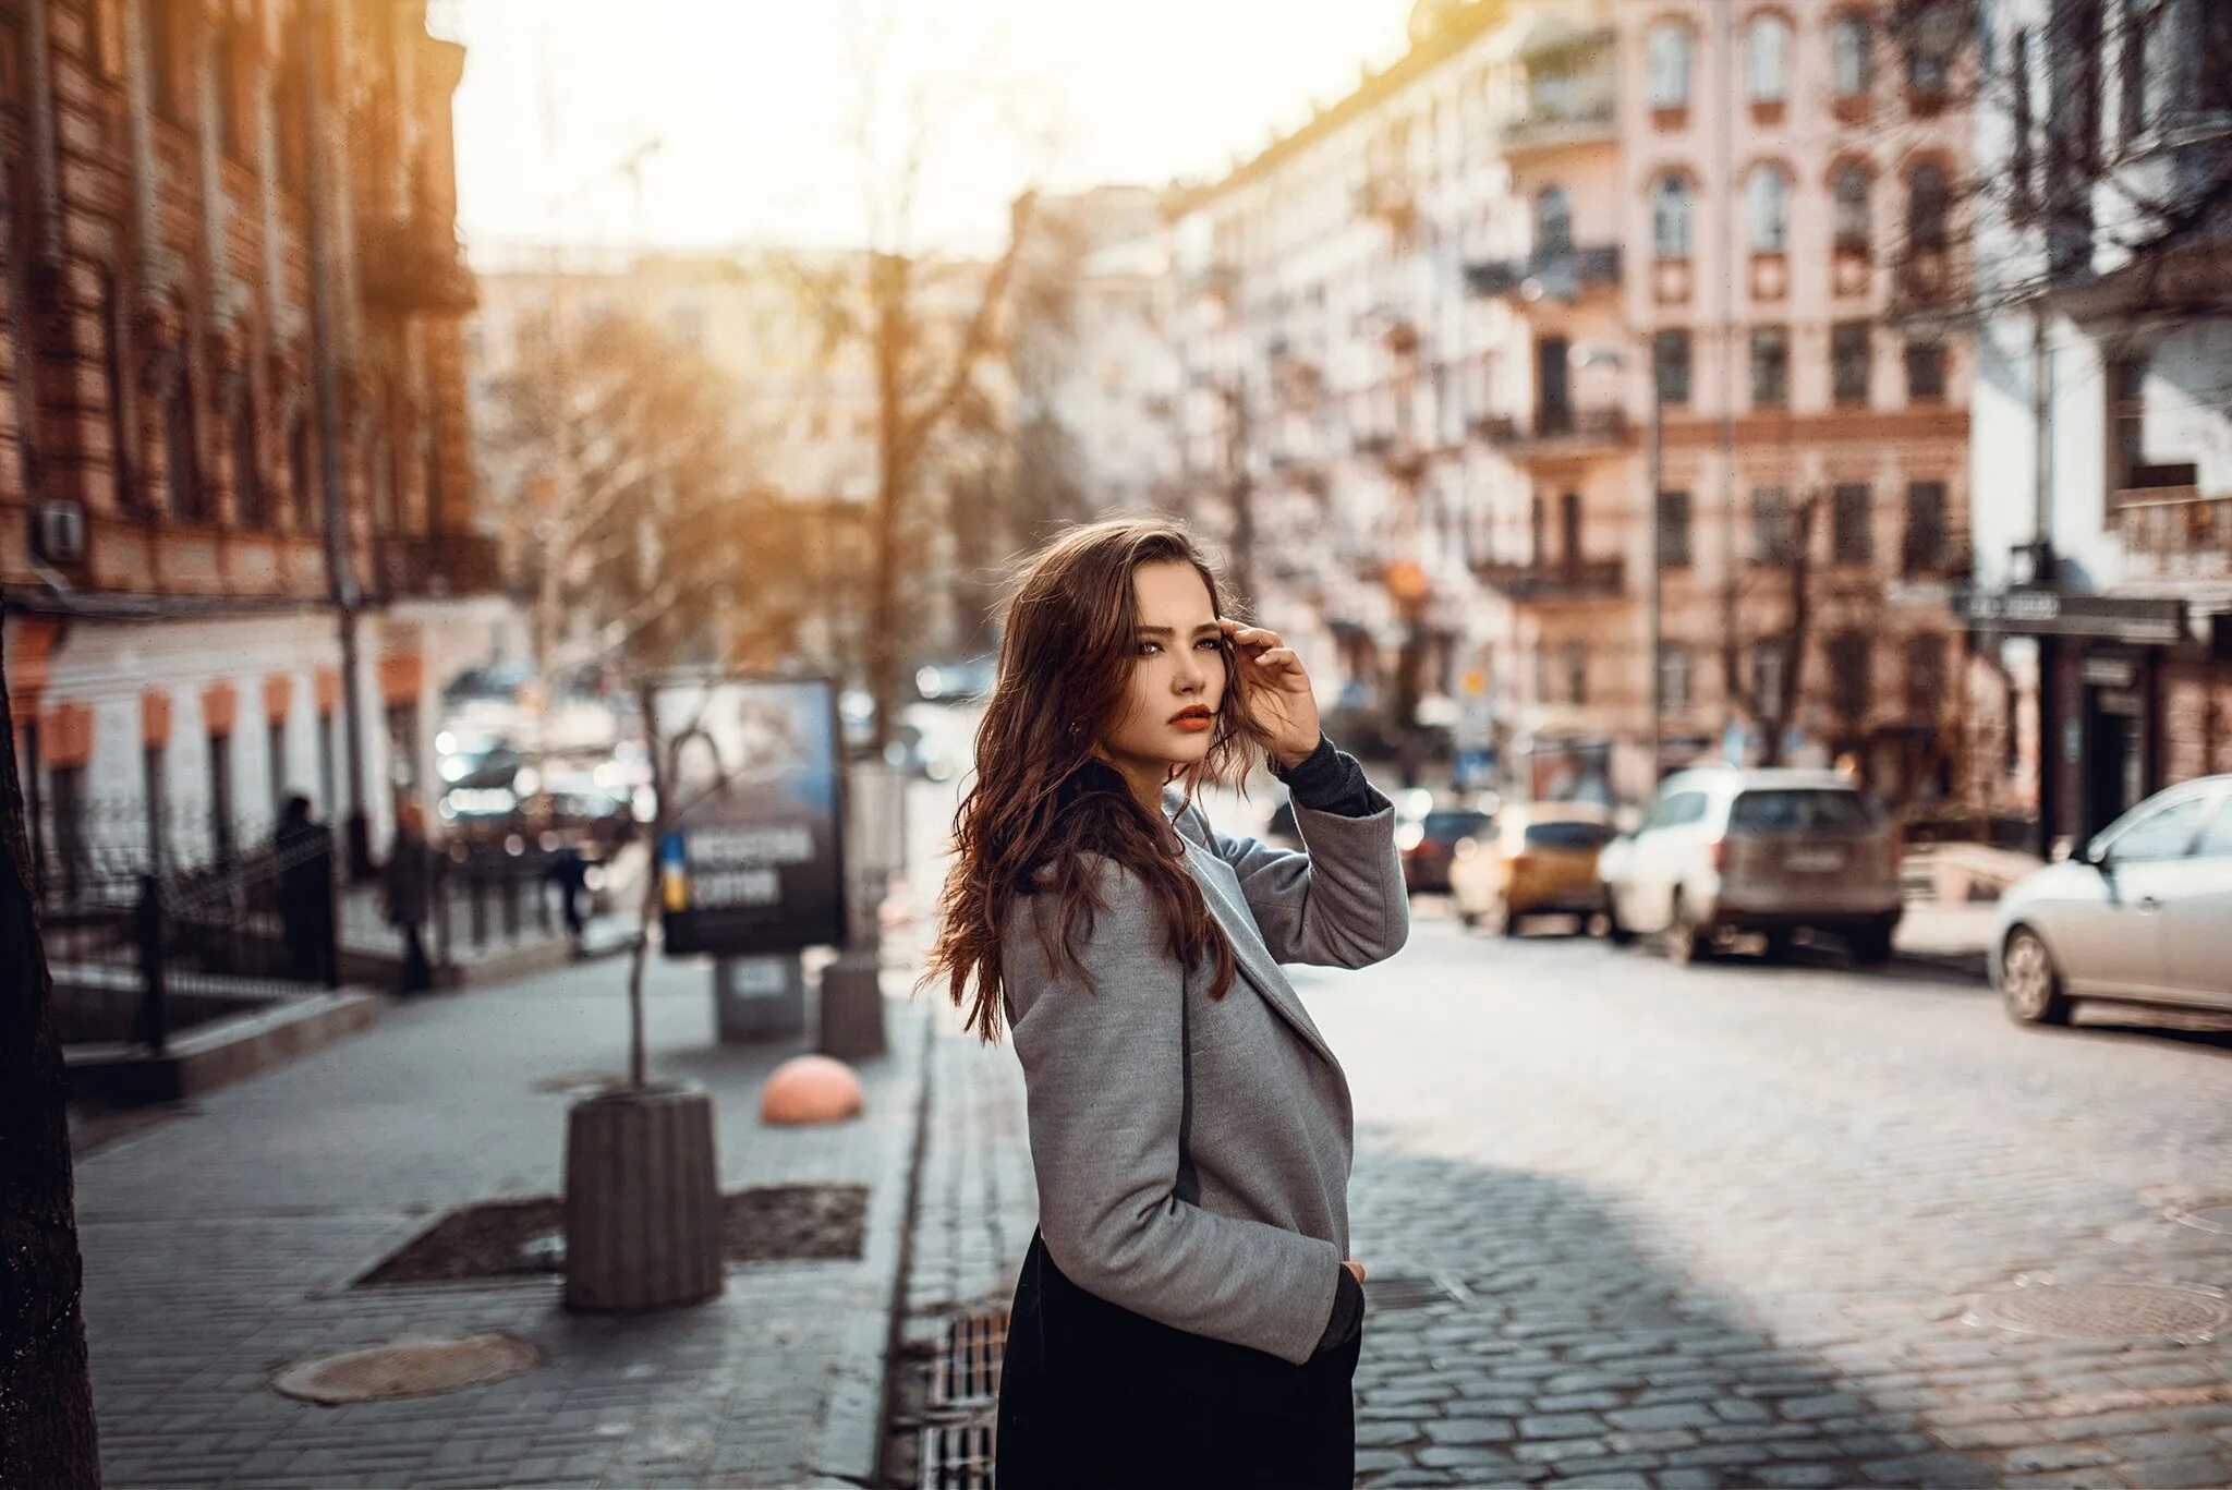
[[[1411,896],[1395,853],[1395,804],[1366,784],[1370,813],[1350,818],[1295,802],[1303,851],[1225,838],[1201,820],[1232,865],[1272,961],[1370,967],[1411,940]],[[1199,811],[1199,809],[1196,809]]]

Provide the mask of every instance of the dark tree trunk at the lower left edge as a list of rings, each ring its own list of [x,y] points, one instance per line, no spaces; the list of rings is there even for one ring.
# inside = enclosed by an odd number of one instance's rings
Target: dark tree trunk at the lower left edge
[[[0,663],[0,1486],[98,1486],[78,1222]]]

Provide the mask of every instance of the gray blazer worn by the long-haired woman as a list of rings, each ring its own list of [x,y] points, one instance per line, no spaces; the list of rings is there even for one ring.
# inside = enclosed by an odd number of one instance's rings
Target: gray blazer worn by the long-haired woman
[[[1348,1081],[1279,963],[1366,967],[1402,949],[1411,907],[1395,809],[1295,809],[1306,853],[1216,833],[1165,797],[1185,867],[1239,974],[1183,967],[1138,878],[1098,860],[1107,909],[1080,938],[1098,992],[1049,972],[1016,900],[1002,934],[1004,1003],[1029,1088],[1031,1166],[1047,1253],[1100,1298],[1190,1334],[1303,1363],[1333,1316],[1348,1255]],[[1181,1021],[1183,1010],[1183,1021]],[[1192,1025],[1190,1164],[1178,1166]]]

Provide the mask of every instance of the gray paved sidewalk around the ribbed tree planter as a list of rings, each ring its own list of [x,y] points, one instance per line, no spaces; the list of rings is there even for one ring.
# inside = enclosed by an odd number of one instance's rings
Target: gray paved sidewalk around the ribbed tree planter
[[[801,1486],[875,1470],[884,1351],[920,1135],[926,1003],[886,974],[866,1117],[779,1130],[768,1070],[721,1048],[708,972],[650,970],[654,1070],[719,1104],[723,1191],[864,1184],[859,1258],[752,1262],[699,1309],[569,1316],[556,1276],[350,1282],[442,1213],[560,1188],[569,1088],[625,1066],[625,970],[587,963],[388,1010],[78,1164],[85,1316],[114,1486]],[[507,1331],[540,1367],[344,1407],[279,1396],[312,1356]]]

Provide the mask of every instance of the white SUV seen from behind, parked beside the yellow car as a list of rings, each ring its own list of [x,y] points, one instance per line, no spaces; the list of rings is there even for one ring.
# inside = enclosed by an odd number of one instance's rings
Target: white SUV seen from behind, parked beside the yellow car
[[[1598,878],[1609,936],[1665,934],[1683,963],[1736,932],[1763,932],[1777,956],[1812,929],[1875,965],[1899,927],[1897,831],[1832,771],[1678,771],[1643,827],[1605,847]]]

